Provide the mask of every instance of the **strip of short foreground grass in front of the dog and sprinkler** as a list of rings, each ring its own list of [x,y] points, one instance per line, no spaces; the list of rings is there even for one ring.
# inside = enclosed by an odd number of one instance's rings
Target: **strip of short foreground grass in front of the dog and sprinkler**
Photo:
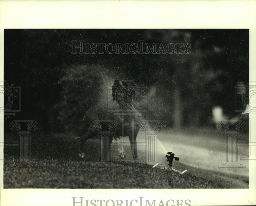
[[[121,162],[118,168],[91,168],[95,162],[74,160],[41,159],[37,163],[39,168],[26,169],[10,168],[6,163],[4,188],[232,188],[191,172],[180,175],[167,169],[138,168],[131,162]]]

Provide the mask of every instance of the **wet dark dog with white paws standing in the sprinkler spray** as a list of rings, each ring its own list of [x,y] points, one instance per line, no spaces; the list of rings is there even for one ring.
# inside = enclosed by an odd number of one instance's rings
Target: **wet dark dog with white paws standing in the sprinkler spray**
[[[113,137],[118,144],[118,153],[120,158],[125,158],[125,152],[120,141],[121,137],[129,136],[131,142],[131,149],[133,154],[133,159],[137,158],[137,143],[136,137],[138,134],[137,123],[142,120],[142,114],[133,110],[133,93],[129,92],[129,87],[125,82],[120,83],[119,80],[115,80],[112,85],[112,97],[113,101],[116,102],[115,107],[121,106],[122,108],[127,108],[122,112],[109,112],[106,105],[98,104],[91,107],[85,114],[83,120],[88,127],[88,132],[79,138],[79,157],[84,158],[83,152],[83,143],[92,138],[93,136],[98,135],[98,132],[93,131],[91,128],[91,123],[95,120],[102,121],[102,127],[107,128],[108,123],[104,123],[105,120],[116,121],[119,124],[119,129],[112,132]],[[118,109],[116,110],[118,111]],[[106,124],[106,125],[104,125]],[[112,141],[111,140],[111,141]],[[108,147],[110,148],[110,147]]]

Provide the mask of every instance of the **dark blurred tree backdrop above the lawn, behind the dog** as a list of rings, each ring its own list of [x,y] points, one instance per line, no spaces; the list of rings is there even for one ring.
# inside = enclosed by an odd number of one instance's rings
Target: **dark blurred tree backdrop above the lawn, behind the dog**
[[[84,43],[189,43],[189,54],[71,54]],[[115,79],[148,87],[148,120],[216,128],[239,119],[234,87],[249,80],[249,29],[5,29],[4,80],[21,87],[16,119],[41,132],[85,132],[82,118]],[[6,99],[5,99],[6,101]],[[85,108],[82,106],[84,105]],[[242,108],[243,102],[236,100]],[[8,129],[8,128],[7,128]]]

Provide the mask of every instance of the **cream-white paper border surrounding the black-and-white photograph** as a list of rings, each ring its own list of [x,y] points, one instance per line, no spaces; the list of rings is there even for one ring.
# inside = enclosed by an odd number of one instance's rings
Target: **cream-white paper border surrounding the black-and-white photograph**
[[[0,80],[7,28],[201,28],[250,29],[250,81],[256,80],[256,1],[0,1]],[[255,95],[254,95],[255,96]],[[254,101],[255,102],[255,101]],[[0,101],[3,106],[3,101]],[[1,142],[3,142],[1,115]],[[250,115],[252,125],[256,115]],[[253,119],[252,119],[253,118]],[[254,124],[255,125],[255,124]],[[251,141],[255,142],[251,130]],[[255,151],[252,151],[255,155]],[[1,146],[1,157],[3,147]],[[256,159],[256,158],[254,158]],[[3,189],[1,205],[72,206],[71,196],[88,199],[191,199],[191,205],[256,204],[255,162],[250,189]],[[125,175],[125,174],[124,174]],[[86,177],[85,177],[86,178]],[[79,205],[79,204],[76,204]],[[138,204],[139,205],[139,204]]]

